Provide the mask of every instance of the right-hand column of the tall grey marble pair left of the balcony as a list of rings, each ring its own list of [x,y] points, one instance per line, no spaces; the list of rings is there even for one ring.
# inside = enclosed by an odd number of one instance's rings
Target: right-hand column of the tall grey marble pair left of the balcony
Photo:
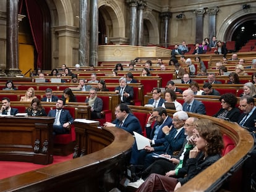
[[[98,65],[98,0],[91,0],[90,9],[90,63]]]

